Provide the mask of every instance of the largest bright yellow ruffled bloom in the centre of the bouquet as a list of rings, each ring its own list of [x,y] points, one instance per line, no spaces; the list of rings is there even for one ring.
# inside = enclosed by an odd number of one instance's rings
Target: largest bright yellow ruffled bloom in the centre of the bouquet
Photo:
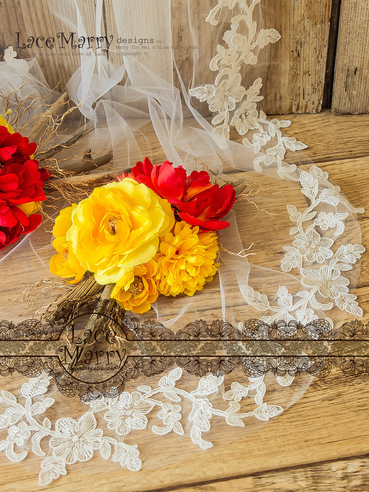
[[[125,178],[95,188],[72,213],[73,252],[101,285],[116,283],[150,261],[159,236],[174,225],[167,200],[145,184]]]

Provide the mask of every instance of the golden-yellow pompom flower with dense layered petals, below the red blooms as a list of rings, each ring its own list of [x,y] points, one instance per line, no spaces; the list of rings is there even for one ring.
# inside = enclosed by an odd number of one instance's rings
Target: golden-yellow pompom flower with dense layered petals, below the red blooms
[[[165,296],[192,296],[210,282],[217,271],[215,263],[219,250],[216,234],[201,231],[184,221],[177,222],[174,233],[160,238],[157,262],[158,291]]]

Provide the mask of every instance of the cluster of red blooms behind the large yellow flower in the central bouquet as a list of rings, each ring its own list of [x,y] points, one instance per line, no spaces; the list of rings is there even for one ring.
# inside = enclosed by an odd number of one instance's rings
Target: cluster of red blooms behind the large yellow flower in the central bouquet
[[[182,166],[173,167],[169,161],[153,166],[150,159],[145,157],[125,176],[146,184],[161,198],[167,199],[179,218],[188,224],[210,231],[229,226],[229,222],[219,219],[233,207],[236,192],[231,184],[221,188],[217,184],[212,186],[206,171],[192,171],[187,176]],[[118,181],[122,180],[120,176],[117,178]]]

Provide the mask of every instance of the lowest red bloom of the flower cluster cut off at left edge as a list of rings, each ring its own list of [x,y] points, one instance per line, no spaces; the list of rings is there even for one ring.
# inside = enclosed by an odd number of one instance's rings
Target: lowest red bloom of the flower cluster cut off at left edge
[[[9,209],[12,209],[10,214]],[[0,203],[0,249],[18,241],[22,234],[34,231],[41,222],[40,214],[27,217],[18,207],[7,207]]]

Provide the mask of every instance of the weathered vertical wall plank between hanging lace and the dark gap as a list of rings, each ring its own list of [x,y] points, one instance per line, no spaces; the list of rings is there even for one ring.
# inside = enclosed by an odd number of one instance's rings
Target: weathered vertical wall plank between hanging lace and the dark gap
[[[323,102],[331,0],[268,0],[263,11],[266,27],[276,28],[282,36],[269,46],[264,111],[318,113]]]

